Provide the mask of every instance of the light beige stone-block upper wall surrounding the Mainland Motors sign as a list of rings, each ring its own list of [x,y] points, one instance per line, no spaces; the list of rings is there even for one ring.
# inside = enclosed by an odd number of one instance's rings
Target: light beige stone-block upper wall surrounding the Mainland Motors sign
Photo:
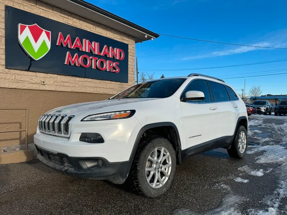
[[[5,69],[5,5],[82,28],[129,45],[129,82],[119,83]],[[45,81],[46,85],[41,82]],[[36,0],[0,0],[0,87],[33,90],[116,94],[135,84],[135,39],[94,21]]]

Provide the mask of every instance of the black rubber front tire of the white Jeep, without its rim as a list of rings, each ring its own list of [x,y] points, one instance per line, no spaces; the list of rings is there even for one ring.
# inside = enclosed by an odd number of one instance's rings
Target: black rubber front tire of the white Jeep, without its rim
[[[152,151],[157,147],[164,147],[170,153],[171,171],[169,178],[164,185],[162,185],[160,188],[152,188],[147,182],[145,168],[150,153],[152,153]],[[164,137],[151,136],[140,143],[129,173],[129,182],[134,190],[139,194],[152,198],[160,196],[170,188],[175,173],[175,165],[176,155],[171,143]]]

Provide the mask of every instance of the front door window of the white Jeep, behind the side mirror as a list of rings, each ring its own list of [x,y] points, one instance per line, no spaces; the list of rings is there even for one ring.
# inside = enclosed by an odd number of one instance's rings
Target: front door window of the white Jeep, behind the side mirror
[[[205,80],[193,80],[190,82],[182,93],[182,98],[185,98],[185,93],[190,90],[197,90],[204,93],[204,100],[196,102],[210,102],[210,93],[207,82]]]

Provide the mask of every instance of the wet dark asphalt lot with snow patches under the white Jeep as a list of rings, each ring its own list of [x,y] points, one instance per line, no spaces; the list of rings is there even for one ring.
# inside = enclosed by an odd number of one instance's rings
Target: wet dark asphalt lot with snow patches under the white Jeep
[[[158,198],[128,184],[78,179],[38,160],[0,166],[0,214],[251,214],[287,215],[287,116],[249,117],[248,154],[225,149],[192,156],[176,167]]]

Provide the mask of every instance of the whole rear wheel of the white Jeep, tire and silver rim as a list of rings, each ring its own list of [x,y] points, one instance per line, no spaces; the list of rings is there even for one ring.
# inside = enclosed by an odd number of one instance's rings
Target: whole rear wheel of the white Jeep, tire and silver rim
[[[247,132],[244,126],[238,126],[230,149],[227,150],[232,158],[243,158],[247,149]]]

